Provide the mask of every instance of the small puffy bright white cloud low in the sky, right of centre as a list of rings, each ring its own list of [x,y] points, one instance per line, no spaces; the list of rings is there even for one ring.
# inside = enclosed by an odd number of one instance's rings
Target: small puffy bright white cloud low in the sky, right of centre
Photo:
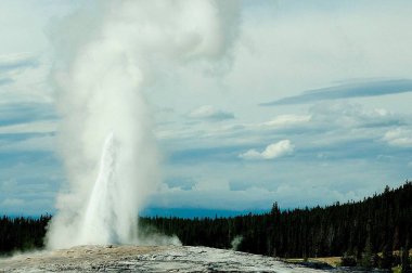
[[[249,150],[244,154],[239,155],[243,159],[273,159],[286,155],[293,154],[295,145],[289,140],[282,140],[276,143],[268,145],[265,151],[258,152],[256,150]]]

